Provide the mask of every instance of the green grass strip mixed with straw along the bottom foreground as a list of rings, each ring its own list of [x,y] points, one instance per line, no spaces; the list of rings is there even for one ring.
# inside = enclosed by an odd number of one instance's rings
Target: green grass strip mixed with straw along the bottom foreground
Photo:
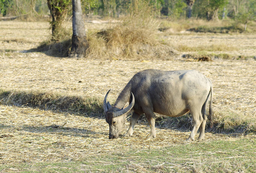
[[[149,141],[150,142],[150,141]],[[129,147],[129,146],[126,146]],[[255,138],[112,151],[58,163],[1,165],[19,172],[255,172]]]

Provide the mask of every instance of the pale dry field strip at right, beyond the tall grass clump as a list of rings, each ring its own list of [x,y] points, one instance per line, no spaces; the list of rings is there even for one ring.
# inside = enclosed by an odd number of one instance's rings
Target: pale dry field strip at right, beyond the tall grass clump
[[[182,54],[226,54],[231,57],[255,57],[254,38],[255,34],[191,33],[191,35],[169,35],[166,37],[166,42],[177,49],[180,46],[185,47],[181,48]],[[217,48],[211,47],[212,45]],[[220,45],[224,45],[224,48]]]

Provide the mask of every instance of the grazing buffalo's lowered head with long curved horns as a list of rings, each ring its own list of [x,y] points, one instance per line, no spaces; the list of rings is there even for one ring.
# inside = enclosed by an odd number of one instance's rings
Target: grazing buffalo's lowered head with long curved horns
[[[110,89],[109,89],[110,91]],[[106,121],[109,125],[109,139],[118,138],[121,130],[125,126],[126,122],[126,113],[131,110],[134,106],[134,95],[131,92],[132,100],[131,103],[129,101],[122,108],[111,106],[109,102],[107,102],[108,93],[107,92],[104,99],[104,113]]]

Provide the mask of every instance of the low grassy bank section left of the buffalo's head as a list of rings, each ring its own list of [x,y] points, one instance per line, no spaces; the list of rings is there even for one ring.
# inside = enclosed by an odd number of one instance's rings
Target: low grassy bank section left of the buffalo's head
[[[103,103],[98,98],[63,96],[55,93],[3,91],[0,89],[0,104],[32,107],[54,112],[69,112],[81,116],[103,118]]]

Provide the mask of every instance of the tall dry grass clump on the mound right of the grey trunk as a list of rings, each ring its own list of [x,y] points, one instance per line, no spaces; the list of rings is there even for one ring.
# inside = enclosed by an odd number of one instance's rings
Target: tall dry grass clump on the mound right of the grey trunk
[[[104,57],[134,59],[137,57],[161,57],[164,48],[157,39],[159,21],[151,14],[151,8],[142,2],[139,13],[134,10],[116,24],[109,25],[101,31],[90,29],[87,33],[89,49],[87,57]],[[166,48],[164,48],[166,50]],[[168,55],[169,51],[164,55]]]

